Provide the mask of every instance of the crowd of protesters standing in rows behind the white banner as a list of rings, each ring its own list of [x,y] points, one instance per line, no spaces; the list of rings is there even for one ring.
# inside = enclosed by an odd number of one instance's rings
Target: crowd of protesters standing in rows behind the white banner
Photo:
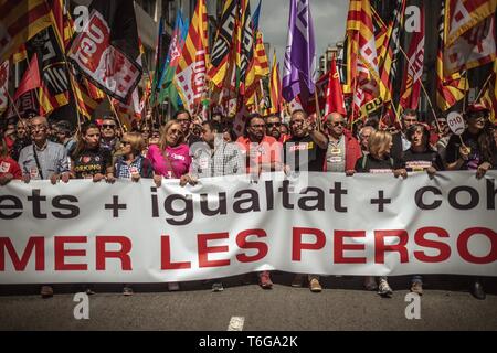
[[[497,169],[497,126],[489,111],[470,105],[464,113],[466,130],[452,135],[441,116],[429,126],[414,110],[405,110],[399,128],[383,127],[379,119],[359,121],[349,129],[346,117],[331,113],[322,121],[295,110],[287,126],[277,115],[257,114],[245,121],[242,136],[233,129],[233,119],[215,115],[202,121],[180,110],[163,125],[150,121],[123,132],[118,121],[106,116],[85,122],[76,131],[68,121],[49,124],[45,117],[8,120],[1,126],[0,185],[11,180],[92,179],[113,183],[116,179],[138,182],[152,179],[157,186],[163,178],[178,179],[180,185],[195,184],[201,178],[262,172],[298,171],[345,173],[384,173],[384,178],[408,178],[408,172],[426,172],[434,178],[444,170],[473,170],[476,178]],[[388,176],[391,174],[392,176]],[[292,286],[308,282],[313,292],[322,287],[317,275],[297,275]],[[271,274],[258,274],[262,288],[273,286]],[[482,281],[475,278],[472,293],[485,299]],[[170,282],[169,290],[179,290]],[[223,290],[214,280],[213,290]],[[364,278],[367,290],[390,297],[387,277]],[[410,289],[422,295],[423,278],[415,275]],[[91,291],[88,289],[88,291]],[[92,291],[91,291],[92,292]],[[43,286],[51,297],[51,286]],[[129,284],[124,295],[133,295]]]

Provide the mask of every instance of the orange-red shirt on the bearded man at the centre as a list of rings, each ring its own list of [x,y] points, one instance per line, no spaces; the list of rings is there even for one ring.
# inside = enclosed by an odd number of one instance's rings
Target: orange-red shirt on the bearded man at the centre
[[[276,164],[276,169],[279,170],[279,165],[282,164],[282,143],[276,141],[274,137],[264,136],[261,143],[251,142],[248,137],[239,137],[236,140],[239,143],[242,154],[246,158],[246,172],[250,173],[254,165],[261,167],[263,163],[274,163]],[[251,145],[256,145],[252,147]],[[248,153],[248,154],[247,154]],[[247,157],[250,156],[250,157]],[[268,170],[266,170],[268,171]]]

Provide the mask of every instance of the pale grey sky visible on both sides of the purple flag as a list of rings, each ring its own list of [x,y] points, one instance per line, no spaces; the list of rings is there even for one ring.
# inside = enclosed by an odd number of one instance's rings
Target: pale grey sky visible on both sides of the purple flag
[[[276,47],[276,56],[279,67],[283,68],[283,60],[288,32],[288,15],[290,0],[263,0],[261,9],[260,29],[264,33],[264,42],[271,43],[269,61],[273,57],[273,47]],[[314,20],[314,33],[316,39],[317,60],[325,53],[328,45],[335,46],[343,41],[349,10],[349,0],[309,0],[310,13]],[[251,10],[255,11],[258,0],[251,0]]]

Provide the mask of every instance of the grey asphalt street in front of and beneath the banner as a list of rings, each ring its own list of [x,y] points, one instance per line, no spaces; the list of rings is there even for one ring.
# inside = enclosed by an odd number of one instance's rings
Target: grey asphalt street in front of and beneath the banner
[[[53,298],[41,299],[39,286],[0,286],[0,330],[226,331],[233,318],[243,318],[243,331],[497,330],[496,277],[485,278],[487,299],[476,300],[468,278],[427,276],[421,318],[411,320],[409,277],[391,278],[390,299],[363,290],[359,277],[326,277],[320,293],[290,287],[292,278],[276,272],[274,288],[263,290],[255,280],[242,285],[232,277],[222,292],[200,281],[181,284],[177,292],[162,284],[137,285],[131,297],[118,285],[96,285],[87,320],[74,317],[74,292],[82,287],[57,285]]]

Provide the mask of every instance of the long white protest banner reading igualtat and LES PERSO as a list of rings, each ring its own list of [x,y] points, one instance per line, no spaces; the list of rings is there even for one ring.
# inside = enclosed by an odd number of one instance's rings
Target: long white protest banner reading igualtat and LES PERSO
[[[183,281],[264,269],[497,276],[496,176],[268,174],[184,189],[178,180],[159,189],[151,180],[11,182],[0,188],[0,284]]]

